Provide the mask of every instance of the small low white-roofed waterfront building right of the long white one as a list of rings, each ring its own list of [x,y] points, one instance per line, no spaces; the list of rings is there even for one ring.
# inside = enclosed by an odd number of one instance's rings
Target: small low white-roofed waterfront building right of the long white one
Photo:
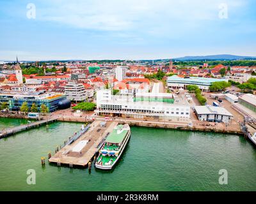
[[[195,106],[195,113],[201,121],[228,123],[233,119],[230,112],[219,106]]]

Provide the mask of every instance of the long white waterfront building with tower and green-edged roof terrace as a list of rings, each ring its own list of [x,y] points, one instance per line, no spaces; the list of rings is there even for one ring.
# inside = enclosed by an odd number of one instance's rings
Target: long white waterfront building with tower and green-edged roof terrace
[[[111,90],[97,91],[98,115],[137,119],[190,120],[186,99],[173,99],[172,94],[138,93],[136,96],[113,96]]]

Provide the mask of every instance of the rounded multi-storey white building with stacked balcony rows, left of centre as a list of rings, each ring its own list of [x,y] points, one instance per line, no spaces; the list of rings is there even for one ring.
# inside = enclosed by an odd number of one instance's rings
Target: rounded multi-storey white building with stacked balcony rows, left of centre
[[[75,82],[68,82],[65,86],[65,94],[71,101],[85,101],[88,97],[84,85]]]

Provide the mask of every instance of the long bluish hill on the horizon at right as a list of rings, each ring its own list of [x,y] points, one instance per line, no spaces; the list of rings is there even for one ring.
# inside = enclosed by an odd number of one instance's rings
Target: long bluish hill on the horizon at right
[[[256,57],[239,56],[239,55],[205,55],[205,56],[186,56],[174,58],[178,61],[194,61],[194,60],[237,60],[237,59],[256,59]]]

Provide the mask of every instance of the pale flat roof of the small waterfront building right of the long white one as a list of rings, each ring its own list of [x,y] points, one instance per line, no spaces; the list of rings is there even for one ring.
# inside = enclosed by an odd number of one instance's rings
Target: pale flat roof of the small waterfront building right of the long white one
[[[218,114],[233,116],[226,108],[218,106],[195,106],[195,111],[198,115]]]

